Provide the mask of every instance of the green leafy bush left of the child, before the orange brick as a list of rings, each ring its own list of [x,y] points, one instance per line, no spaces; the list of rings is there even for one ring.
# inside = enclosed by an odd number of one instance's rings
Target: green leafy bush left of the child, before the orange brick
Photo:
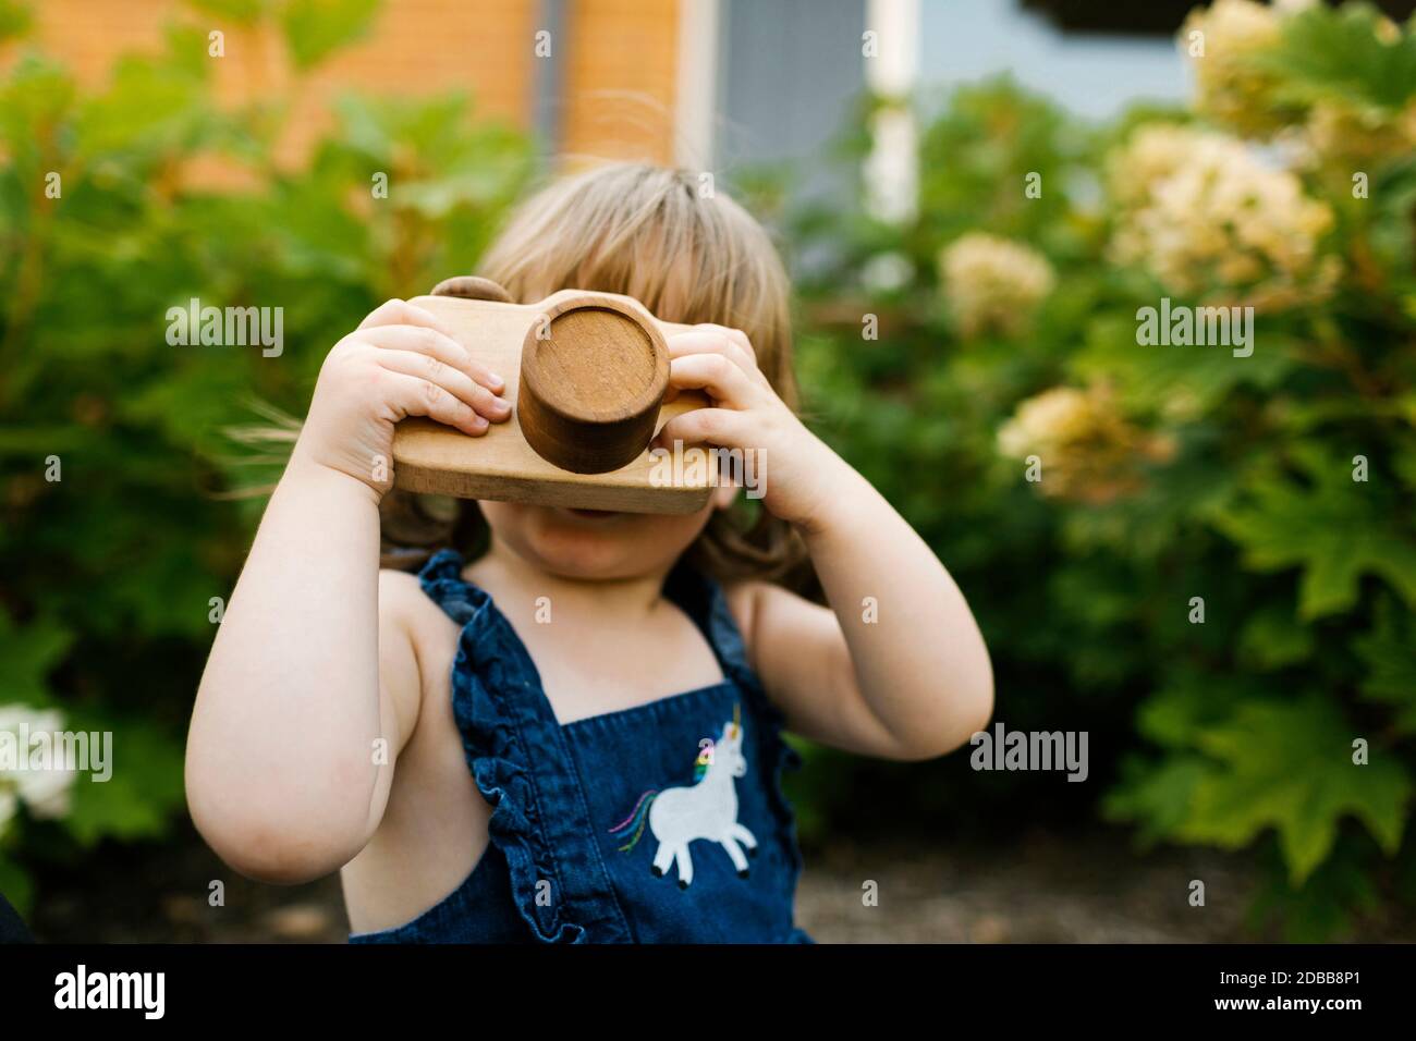
[[[279,17],[302,72],[372,14],[215,7]],[[21,31],[17,10],[0,27]],[[0,707],[112,731],[118,763],[108,783],[72,785],[52,823],[0,821],[0,889],[24,905],[21,843],[33,871],[102,838],[161,836],[183,807],[214,598],[261,506],[221,494],[276,465],[236,473],[252,456],[225,432],[266,405],[303,415],[338,336],[470,269],[531,150],[462,98],[347,98],[310,161],[286,170],[273,143],[289,99],[219,108],[205,28],[174,24],[163,51],[123,58],[93,95],[23,40],[0,45],[21,51],[0,81]],[[224,183],[202,188],[194,171],[212,166]],[[283,307],[285,350],[170,346],[167,310],[193,297]]]

